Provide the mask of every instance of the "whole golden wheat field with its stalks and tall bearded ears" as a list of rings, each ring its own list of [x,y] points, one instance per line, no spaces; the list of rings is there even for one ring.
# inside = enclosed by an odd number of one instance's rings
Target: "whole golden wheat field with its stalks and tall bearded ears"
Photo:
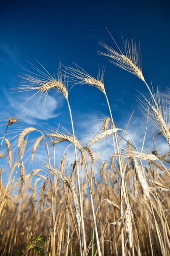
[[[159,92],[151,92],[142,74],[136,44],[126,41],[125,49],[118,48],[119,52],[104,43],[101,45],[107,49],[102,55],[147,86],[150,99],[143,97],[140,108],[147,117],[146,123],[150,120],[158,129],[157,134],[170,145],[170,102],[166,96],[161,98]],[[21,119],[4,119],[6,128],[0,138],[0,255],[170,255],[170,152],[161,155],[153,148],[150,153],[144,148],[144,141],[139,150],[133,134],[116,127],[103,72],[95,79],[76,65],[66,68],[63,77],[59,67],[56,79],[42,66],[42,71],[32,67],[34,76],[32,72],[21,76],[24,82],[20,89],[37,90],[39,100],[46,98],[49,90],[62,93],[72,130],[38,124],[24,127]],[[105,94],[110,111],[110,116],[97,126],[98,130],[82,141],[75,136],[65,77],[72,84],[99,89]],[[12,130],[9,130],[13,127],[15,131],[18,121],[20,128],[11,142]],[[33,134],[34,141],[30,138]],[[99,166],[97,145],[104,145],[108,138],[113,154],[106,154]],[[68,146],[59,162],[55,149],[65,142]],[[126,148],[121,147],[122,142]],[[29,163],[34,161],[40,145],[45,155],[36,169],[31,169]],[[68,150],[73,153],[71,157]],[[3,180],[3,172],[8,175],[7,180]]]

